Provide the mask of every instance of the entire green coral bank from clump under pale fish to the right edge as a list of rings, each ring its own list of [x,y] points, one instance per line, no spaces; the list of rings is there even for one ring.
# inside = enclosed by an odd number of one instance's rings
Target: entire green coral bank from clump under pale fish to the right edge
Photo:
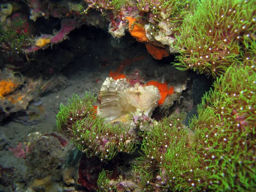
[[[255,85],[254,68],[229,67],[203,97],[190,129],[183,124],[182,114],[159,122],[131,114],[134,124],[126,128],[121,122],[103,124],[92,106],[95,97],[88,94],[83,99],[73,96],[67,107],[61,105],[57,125],[60,131],[73,132],[72,142],[79,150],[101,160],[110,160],[118,152],[131,153],[131,143],[141,143],[142,155],[134,164],[136,178],[111,180],[103,170],[100,191],[254,191]],[[148,124],[150,131],[140,131]],[[128,135],[130,130],[137,134]]]

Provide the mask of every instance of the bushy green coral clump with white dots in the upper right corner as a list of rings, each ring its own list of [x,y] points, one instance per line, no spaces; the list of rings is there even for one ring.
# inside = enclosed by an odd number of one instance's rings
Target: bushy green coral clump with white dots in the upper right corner
[[[216,77],[232,64],[241,64],[256,33],[255,10],[253,0],[202,0],[176,36],[177,68]]]

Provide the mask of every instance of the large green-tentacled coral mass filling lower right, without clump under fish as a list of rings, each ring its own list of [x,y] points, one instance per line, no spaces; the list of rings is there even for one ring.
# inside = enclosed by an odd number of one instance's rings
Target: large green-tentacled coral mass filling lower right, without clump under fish
[[[194,133],[175,119],[143,134],[135,166],[143,189],[256,191],[254,68],[231,66],[216,79],[192,119]]]

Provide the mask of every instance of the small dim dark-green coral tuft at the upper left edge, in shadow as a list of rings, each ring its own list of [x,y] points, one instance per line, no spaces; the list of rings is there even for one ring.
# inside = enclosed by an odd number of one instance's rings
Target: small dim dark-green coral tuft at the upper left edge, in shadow
[[[3,52],[22,53],[33,39],[33,29],[26,20],[12,21],[10,26],[0,23],[0,34],[0,50]]]

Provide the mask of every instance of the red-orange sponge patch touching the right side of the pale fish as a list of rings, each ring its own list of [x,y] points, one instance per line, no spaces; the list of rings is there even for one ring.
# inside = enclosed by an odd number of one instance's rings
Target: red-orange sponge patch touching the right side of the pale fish
[[[158,81],[149,81],[146,83],[146,86],[148,85],[154,85],[155,87],[158,88],[159,93],[161,95],[161,99],[158,101],[158,105],[162,105],[164,100],[166,99],[167,95],[172,95],[174,93],[174,88],[173,87],[168,87],[167,82],[165,83],[160,83]]]

